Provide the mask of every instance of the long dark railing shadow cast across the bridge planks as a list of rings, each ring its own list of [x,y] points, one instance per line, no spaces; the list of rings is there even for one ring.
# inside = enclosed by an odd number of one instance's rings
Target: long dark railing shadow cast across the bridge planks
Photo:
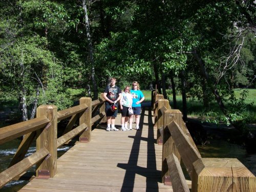
[[[151,110],[149,111],[151,113]],[[155,154],[155,143],[156,139],[154,138],[154,129],[152,115],[148,115],[148,125],[152,127],[148,129],[148,137],[142,137],[143,131],[143,119],[145,117],[145,108],[142,108],[141,112],[141,121],[140,121],[140,131],[136,132],[135,136],[129,136],[134,139],[131,153],[127,164],[118,163],[118,167],[126,169],[125,176],[123,179],[122,188],[120,191],[127,191],[127,188],[130,188],[129,191],[132,191],[135,184],[135,177],[141,175],[146,178],[146,191],[158,191],[158,182],[161,182],[161,171],[157,171],[156,167],[156,154]],[[138,166],[139,164],[139,151],[141,141],[147,142],[147,151],[145,152],[147,156],[147,165],[146,167]]]

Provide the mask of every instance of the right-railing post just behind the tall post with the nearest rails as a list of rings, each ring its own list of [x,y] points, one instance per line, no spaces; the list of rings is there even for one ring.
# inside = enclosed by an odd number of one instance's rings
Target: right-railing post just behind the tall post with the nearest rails
[[[168,99],[159,99],[158,100],[158,121],[157,121],[157,143],[162,144],[162,137],[160,134],[160,127],[163,126],[163,113],[161,112],[162,107],[165,106],[166,109],[170,109]]]

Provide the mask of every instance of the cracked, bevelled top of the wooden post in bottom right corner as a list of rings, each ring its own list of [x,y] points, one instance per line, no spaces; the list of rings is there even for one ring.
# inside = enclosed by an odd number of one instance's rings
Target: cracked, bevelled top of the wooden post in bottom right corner
[[[256,178],[238,159],[202,158],[193,164],[192,191],[256,191]]]

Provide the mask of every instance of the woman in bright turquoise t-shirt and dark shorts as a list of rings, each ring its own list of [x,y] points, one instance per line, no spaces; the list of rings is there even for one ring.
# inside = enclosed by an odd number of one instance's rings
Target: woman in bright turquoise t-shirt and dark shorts
[[[131,90],[132,98],[133,98],[133,116],[135,116],[136,122],[136,130],[140,130],[140,110],[141,110],[141,102],[144,101],[145,97],[143,93],[140,91],[140,85],[137,81],[133,82],[133,89]]]

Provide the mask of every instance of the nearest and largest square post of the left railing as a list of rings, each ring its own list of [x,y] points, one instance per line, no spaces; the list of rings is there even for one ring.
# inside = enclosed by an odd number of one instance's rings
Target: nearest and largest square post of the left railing
[[[36,110],[36,117],[46,116],[50,122],[45,129],[36,132],[36,151],[47,148],[50,152],[48,157],[37,164],[36,176],[53,177],[57,171],[57,106],[40,105]]]

